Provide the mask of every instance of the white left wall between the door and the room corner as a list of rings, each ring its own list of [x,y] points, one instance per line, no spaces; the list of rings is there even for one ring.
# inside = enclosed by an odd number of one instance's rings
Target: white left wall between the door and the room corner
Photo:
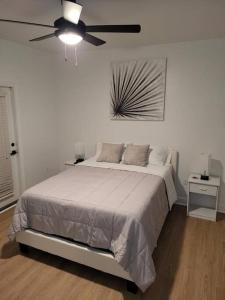
[[[15,87],[23,188],[58,171],[56,80],[50,54],[0,40],[0,86]]]

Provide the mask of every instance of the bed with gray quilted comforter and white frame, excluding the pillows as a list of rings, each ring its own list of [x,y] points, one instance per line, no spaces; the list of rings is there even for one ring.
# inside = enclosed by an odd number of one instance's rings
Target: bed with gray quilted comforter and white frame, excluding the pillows
[[[89,159],[28,189],[10,239],[133,282],[155,279],[152,253],[176,201],[177,153],[166,166]]]

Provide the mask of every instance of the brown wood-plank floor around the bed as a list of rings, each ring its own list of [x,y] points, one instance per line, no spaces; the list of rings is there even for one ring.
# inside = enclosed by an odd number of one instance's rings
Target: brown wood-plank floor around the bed
[[[132,295],[125,281],[62,258],[8,242],[12,210],[0,215],[0,299],[224,300],[225,218],[216,223],[169,214],[154,252],[157,278],[145,294]]]

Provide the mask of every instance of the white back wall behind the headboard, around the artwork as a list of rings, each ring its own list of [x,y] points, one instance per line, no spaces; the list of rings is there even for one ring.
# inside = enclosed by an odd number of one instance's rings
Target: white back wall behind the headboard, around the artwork
[[[111,121],[110,62],[167,57],[165,121]],[[225,211],[225,40],[208,40],[85,52],[79,66],[58,61],[60,164],[73,157],[73,144],[84,141],[91,154],[97,141],[149,142],[179,152],[179,187],[196,154],[209,152],[223,176],[220,209]],[[218,169],[220,169],[218,171]]]

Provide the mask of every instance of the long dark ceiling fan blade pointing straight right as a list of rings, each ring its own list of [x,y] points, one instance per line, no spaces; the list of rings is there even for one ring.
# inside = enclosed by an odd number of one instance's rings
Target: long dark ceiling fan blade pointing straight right
[[[141,25],[90,25],[86,26],[87,32],[118,32],[118,33],[138,33]]]

